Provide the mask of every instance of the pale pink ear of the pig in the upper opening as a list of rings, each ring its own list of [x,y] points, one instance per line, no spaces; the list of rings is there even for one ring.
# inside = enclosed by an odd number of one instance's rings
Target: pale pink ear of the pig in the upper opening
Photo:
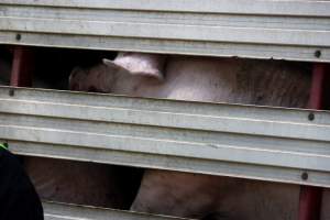
[[[110,67],[118,67],[131,75],[153,77],[164,80],[164,64],[166,56],[144,53],[120,53],[111,62],[103,59],[103,63]]]

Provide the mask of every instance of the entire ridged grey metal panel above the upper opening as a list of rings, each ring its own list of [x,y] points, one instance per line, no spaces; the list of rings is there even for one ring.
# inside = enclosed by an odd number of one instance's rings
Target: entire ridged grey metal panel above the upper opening
[[[4,44],[330,62],[329,1],[1,1],[0,32]]]

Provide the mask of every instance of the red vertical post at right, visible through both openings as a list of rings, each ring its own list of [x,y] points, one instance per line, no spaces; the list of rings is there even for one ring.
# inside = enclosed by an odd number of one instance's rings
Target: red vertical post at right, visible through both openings
[[[315,64],[308,107],[322,109],[324,97],[326,65]],[[322,202],[322,188],[301,186],[299,198],[299,220],[319,220]]]

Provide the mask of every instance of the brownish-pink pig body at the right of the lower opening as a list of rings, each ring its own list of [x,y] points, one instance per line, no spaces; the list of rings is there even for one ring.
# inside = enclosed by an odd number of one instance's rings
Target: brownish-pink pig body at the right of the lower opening
[[[218,211],[237,220],[294,220],[298,198],[294,185],[147,169],[131,209],[196,219]]]

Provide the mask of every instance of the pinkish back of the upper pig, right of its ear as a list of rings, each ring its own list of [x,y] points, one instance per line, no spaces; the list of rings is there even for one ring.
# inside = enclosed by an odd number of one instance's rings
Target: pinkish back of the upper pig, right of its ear
[[[306,108],[310,69],[278,61],[174,56],[166,68],[169,99]]]

